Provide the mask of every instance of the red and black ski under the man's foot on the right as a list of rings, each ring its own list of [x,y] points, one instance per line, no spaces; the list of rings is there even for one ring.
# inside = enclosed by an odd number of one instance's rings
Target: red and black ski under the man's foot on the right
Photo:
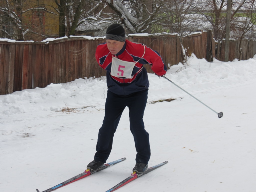
[[[123,181],[121,181],[119,184],[117,184],[116,186],[112,187],[111,189],[105,191],[105,192],[110,192],[110,191],[114,191],[116,189],[119,189],[120,187],[126,185],[127,183],[130,183],[131,181],[133,181],[134,179],[137,179],[138,177],[144,175],[144,174],[147,174],[153,170],[155,170],[156,168],[158,167],[161,167],[163,165],[165,165],[166,163],[168,163],[168,161],[165,161],[163,163],[160,163],[158,165],[155,165],[153,167],[150,167],[148,168],[144,173],[140,173],[140,174],[137,174],[136,172],[133,172],[132,175],[130,177],[127,177],[126,179],[124,179]]]

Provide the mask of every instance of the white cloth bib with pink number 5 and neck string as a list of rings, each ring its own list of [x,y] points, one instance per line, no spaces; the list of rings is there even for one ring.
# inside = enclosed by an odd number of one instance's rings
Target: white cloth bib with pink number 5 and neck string
[[[144,54],[145,54],[145,51],[146,51],[145,50],[145,45],[143,45],[143,46],[144,46]],[[143,56],[144,56],[144,54],[143,54]],[[111,66],[110,74],[114,77],[119,77],[119,78],[125,77],[125,78],[128,78],[128,79],[131,79],[133,77],[132,76],[133,68],[134,68],[134,66],[137,62],[123,61],[121,59],[112,57],[112,66]],[[142,70],[142,68],[139,71],[141,71],[141,70]],[[139,71],[137,71],[137,73]]]

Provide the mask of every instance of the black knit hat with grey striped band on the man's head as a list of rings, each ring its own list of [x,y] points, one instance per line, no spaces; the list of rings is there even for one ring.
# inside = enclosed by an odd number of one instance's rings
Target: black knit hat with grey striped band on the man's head
[[[106,39],[125,42],[125,30],[120,24],[112,24],[106,32]]]

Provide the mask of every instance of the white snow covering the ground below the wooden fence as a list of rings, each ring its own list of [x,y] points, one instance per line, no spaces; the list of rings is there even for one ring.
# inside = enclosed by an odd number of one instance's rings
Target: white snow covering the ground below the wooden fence
[[[148,74],[149,166],[169,162],[119,192],[255,191],[256,56],[212,63],[192,56],[188,62],[172,66],[166,77],[223,117]],[[1,95],[0,191],[43,191],[82,173],[95,153],[106,91],[105,78],[88,78]],[[176,100],[154,102],[170,98]],[[135,156],[125,109],[107,162],[127,159],[57,191],[106,191],[130,176]]]

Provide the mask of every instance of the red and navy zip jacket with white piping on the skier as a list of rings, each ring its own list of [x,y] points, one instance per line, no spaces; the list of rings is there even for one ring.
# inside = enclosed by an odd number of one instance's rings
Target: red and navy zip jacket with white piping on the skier
[[[138,91],[148,89],[149,82],[147,71],[143,65],[151,65],[151,69],[158,75],[164,75],[167,67],[164,65],[162,57],[157,51],[145,46],[125,40],[123,48],[116,54],[112,55],[106,43],[97,46],[95,57],[99,65],[106,70],[107,86],[109,91],[118,95],[129,95]],[[141,58],[143,56],[143,58]],[[132,78],[119,78],[111,76],[112,57],[123,61],[137,62],[132,71]],[[142,69],[142,70],[141,70]]]

